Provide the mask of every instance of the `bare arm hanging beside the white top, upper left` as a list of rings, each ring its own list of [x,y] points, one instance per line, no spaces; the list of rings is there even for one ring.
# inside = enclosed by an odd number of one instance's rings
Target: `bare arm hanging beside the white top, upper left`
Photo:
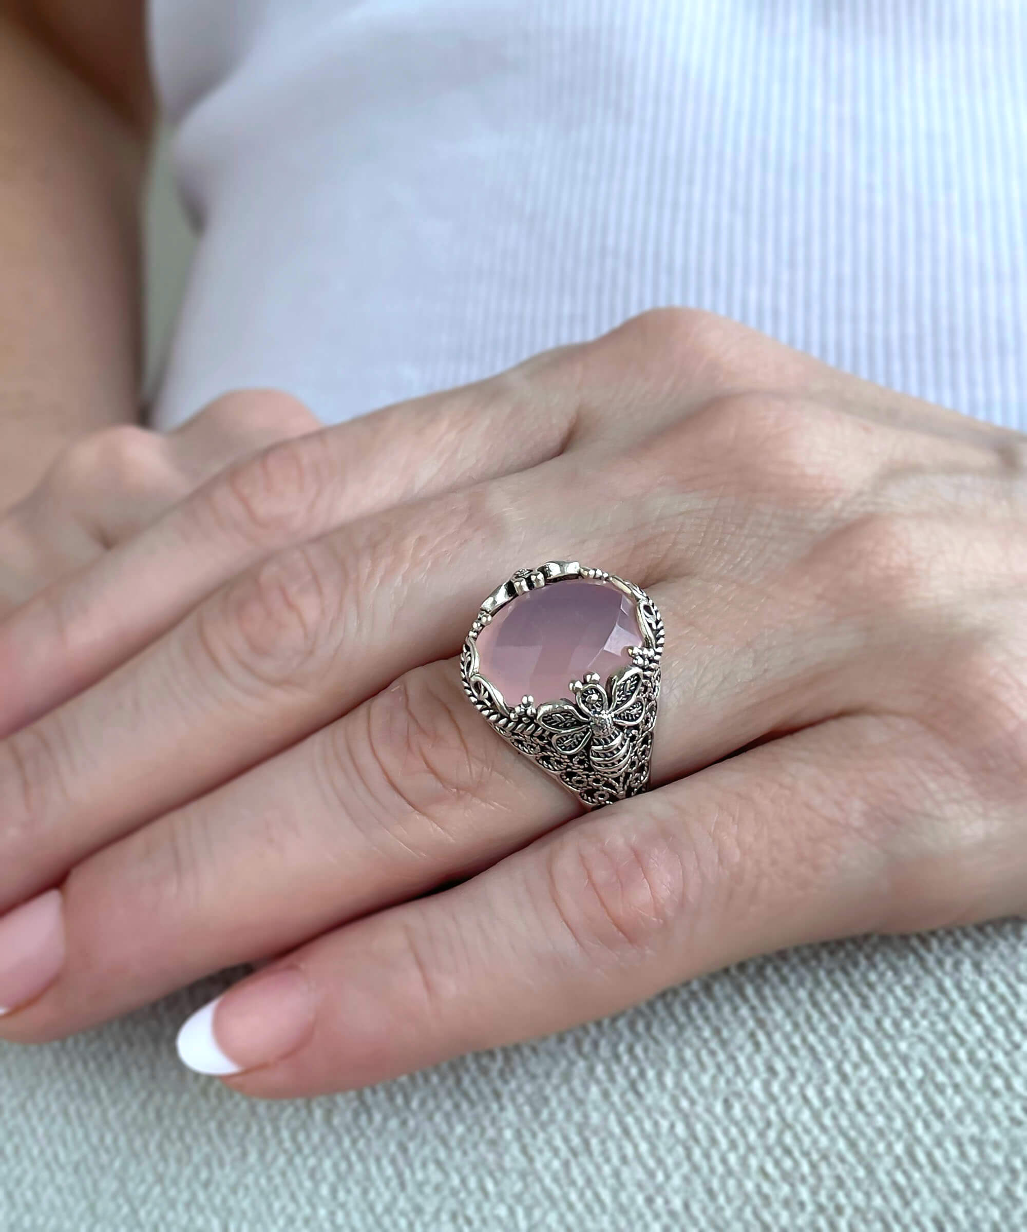
[[[0,509],[138,414],[141,0],[0,0]]]

